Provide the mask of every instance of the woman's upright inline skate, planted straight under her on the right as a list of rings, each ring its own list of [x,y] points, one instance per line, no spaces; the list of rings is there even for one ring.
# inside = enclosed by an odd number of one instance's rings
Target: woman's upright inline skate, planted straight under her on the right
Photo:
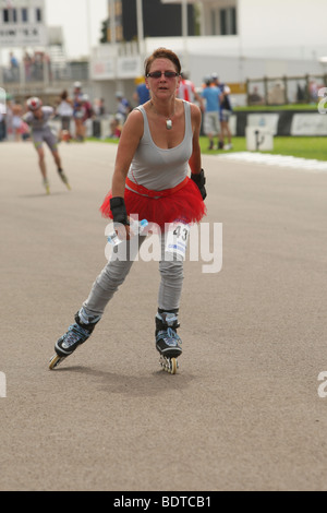
[[[178,368],[177,358],[182,354],[180,346],[182,341],[175,331],[179,326],[178,310],[170,312],[158,310],[156,315],[156,348],[161,355],[161,367],[172,374],[175,373]]]

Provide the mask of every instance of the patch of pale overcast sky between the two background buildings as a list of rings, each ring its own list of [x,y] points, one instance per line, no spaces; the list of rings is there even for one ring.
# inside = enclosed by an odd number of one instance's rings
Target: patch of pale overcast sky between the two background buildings
[[[69,58],[88,53],[88,29],[92,46],[97,46],[107,14],[108,0],[46,0],[47,25],[62,26]]]

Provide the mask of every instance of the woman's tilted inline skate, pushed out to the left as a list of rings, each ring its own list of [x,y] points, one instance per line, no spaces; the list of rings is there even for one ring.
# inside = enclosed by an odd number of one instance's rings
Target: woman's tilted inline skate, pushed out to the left
[[[75,314],[75,323],[71,324],[68,332],[62,335],[55,344],[56,354],[50,359],[49,368],[52,370],[64,358],[70,356],[81,344],[90,336],[100,315],[86,318],[83,315],[83,309]]]

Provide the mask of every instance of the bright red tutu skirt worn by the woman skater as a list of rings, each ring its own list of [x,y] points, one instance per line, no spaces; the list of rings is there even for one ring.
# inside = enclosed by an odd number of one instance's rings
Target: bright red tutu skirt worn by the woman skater
[[[158,194],[160,192],[162,191],[158,191]],[[104,217],[112,219],[110,198],[112,198],[111,191],[105,198],[100,212]],[[148,223],[156,223],[160,227],[164,227],[165,223],[173,223],[177,219],[187,224],[199,223],[206,215],[206,206],[201,192],[191,179],[186,180],[185,186],[178,191],[165,194],[162,198],[148,198],[125,189],[124,200],[128,215],[137,214],[138,219],[147,219]]]

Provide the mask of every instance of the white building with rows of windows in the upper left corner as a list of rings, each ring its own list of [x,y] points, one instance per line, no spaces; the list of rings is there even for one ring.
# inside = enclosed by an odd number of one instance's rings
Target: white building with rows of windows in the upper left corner
[[[62,27],[48,26],[46,14],[46,0],[0,0],[0,87],[21,100],[57,96],[73,82]]]

